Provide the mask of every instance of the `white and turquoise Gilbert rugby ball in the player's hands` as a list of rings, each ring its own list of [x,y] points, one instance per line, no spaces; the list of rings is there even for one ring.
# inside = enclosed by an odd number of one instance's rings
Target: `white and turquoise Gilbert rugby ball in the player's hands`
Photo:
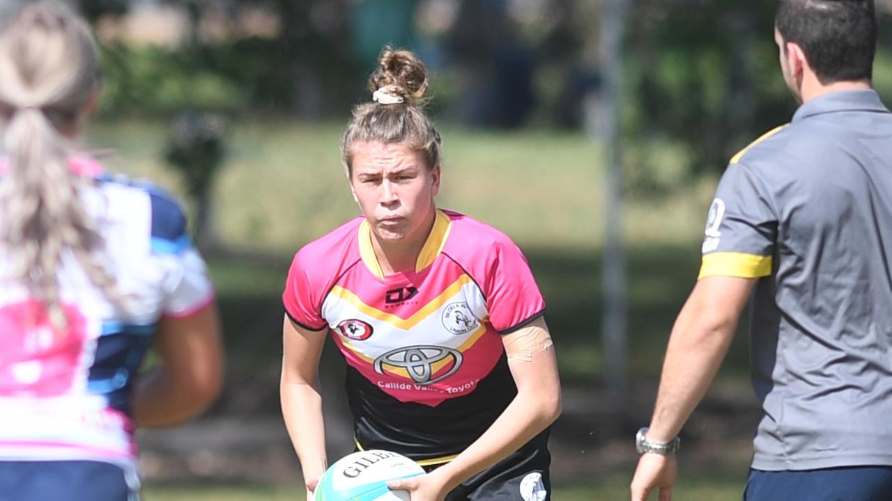
[[[387,482],[423,474],[425,470],[406,456],[363,450],[329,466],[313,497],[315,501],[409,501],[408,491],[387,489]]]

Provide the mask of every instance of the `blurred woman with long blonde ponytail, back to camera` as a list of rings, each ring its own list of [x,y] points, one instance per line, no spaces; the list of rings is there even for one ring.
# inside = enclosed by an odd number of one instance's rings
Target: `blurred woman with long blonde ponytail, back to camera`
[[[136,499],[136,426],[219,392],[213,290],[178,205],[78,149],[101,86],[87,24],[26,6],[0,33],[0,499]],[[137,372],[154,346],[161,364]]]

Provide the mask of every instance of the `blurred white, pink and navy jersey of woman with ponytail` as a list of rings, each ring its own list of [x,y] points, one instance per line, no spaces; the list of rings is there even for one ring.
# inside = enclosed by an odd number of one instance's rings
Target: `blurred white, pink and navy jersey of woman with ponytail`
[[[78,158],[71,169],[95,181],[84,200],[130,307],[126,314],[113,307],[63,253],[58,279],[68,325],[54,330],[45,308],[7,278],[10,263],[0,254],[0,461],[133,464],[129,396],[155,326],[162,316],[209,305],[213,290],[167,195],[107,177],[95,160]],[[0,224],[7,217],[0,214]]]

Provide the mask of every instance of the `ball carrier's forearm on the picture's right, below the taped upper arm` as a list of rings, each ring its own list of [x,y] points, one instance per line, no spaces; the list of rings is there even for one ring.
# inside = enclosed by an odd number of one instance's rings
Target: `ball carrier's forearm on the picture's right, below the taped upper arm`
[[[560,386],[519,389],[498,419],[449,464],[434,470],[446,491],[498,463],[533,439],[560,415]]]

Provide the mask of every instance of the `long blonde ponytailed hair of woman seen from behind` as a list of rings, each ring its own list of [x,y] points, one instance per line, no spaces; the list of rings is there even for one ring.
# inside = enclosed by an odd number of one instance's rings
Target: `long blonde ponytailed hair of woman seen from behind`
[[[25,6],[0,35],[0,111],[7,165],[0,182],[2,246],[12,279],[42,301],[62,328],[57,273],[70,250],[103,293],[120,297],[100,264],[102,236],[82,195],[90,185],[69,168],[71,136],[99,86],[87,24],[59,3]]]

